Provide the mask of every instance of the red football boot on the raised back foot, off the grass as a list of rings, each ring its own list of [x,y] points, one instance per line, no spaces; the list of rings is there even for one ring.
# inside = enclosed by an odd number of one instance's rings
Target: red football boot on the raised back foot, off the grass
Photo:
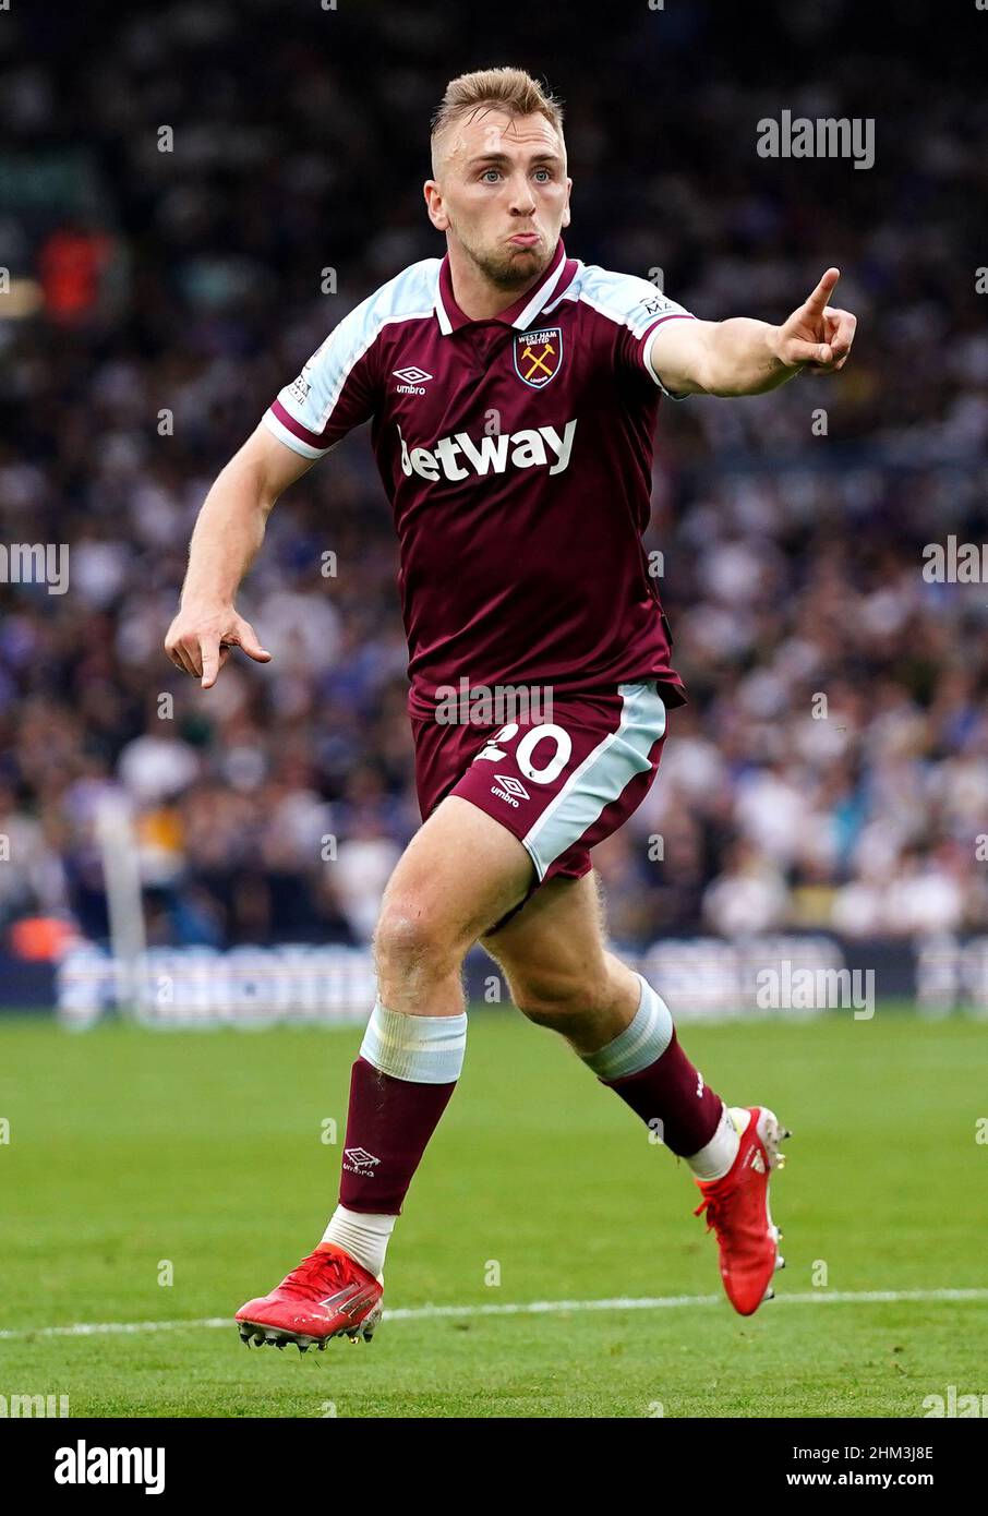
[[[770,1110],[752,1105],[727,1173],[720,1179],[697,1179],[703,1201],[693,1214],[706,1211],[706,1229],[717,1233],[720,1275],[741,1316],[752,1316],[762,1301],[773,1298],[771,1276],[785,1267],[779,1254],[782,1233],[768,1210],[768,1175],[785,1163],[779,1143],[788,1135]]]

